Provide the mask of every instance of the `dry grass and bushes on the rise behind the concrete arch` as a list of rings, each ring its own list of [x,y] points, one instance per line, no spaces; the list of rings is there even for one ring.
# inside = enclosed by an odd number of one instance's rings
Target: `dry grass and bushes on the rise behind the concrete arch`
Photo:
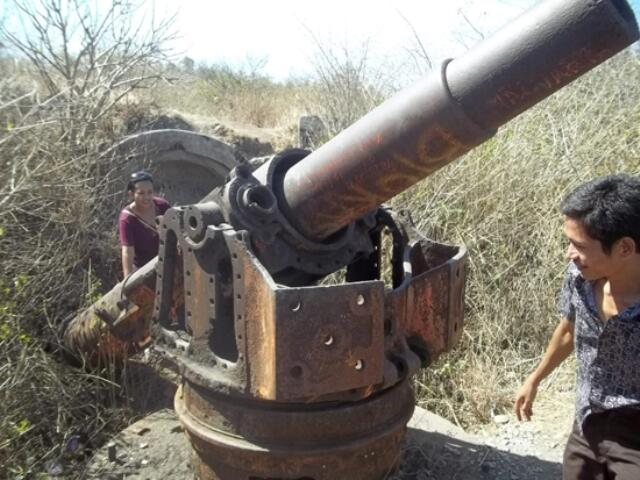
[[[333,136],[395,89],[397,69],[388,62],[375,64],[367,43],[340,46],[311,36],[316,46],[311,78],[275,81],[262,73],[264,63],[251,59],[238,66],[176,66],[173,74],[180,81],[162,84],[144,97],[179,113],[284,129],[289,144],[301,115],[319,115]]]

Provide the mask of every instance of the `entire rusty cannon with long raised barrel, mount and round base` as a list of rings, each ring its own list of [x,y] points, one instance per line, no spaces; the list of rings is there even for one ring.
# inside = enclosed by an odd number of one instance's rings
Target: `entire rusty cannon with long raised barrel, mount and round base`
[[[164,215],[155,265],[92,309],[181,369],[198,478],[394,470],[410,378],[462,332],[466,252],[380,205],[637,38],[625,1],[543,2],[318,150],[238,166]]]

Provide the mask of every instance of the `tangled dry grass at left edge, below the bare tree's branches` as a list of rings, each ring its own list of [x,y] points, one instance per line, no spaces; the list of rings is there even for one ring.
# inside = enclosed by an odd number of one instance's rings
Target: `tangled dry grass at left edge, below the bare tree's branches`
[[[110,117],[68,142],[62,105],[30,95],[0,111],[0,478],[76,462],[70,440],[98,445],[127,418],[115,372],[61,361],[60,323],[115,280],[121,200],[119,164],[100,157]]]

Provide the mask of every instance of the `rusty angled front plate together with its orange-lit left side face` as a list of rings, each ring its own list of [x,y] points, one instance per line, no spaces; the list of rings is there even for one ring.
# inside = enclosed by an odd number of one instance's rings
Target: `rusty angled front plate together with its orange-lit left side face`
[[[286,288],[255,257],[238,261],[247,293],[246,356],[257,368],[247,378],[254,395],[308,400],[382,381],[382,282]]]

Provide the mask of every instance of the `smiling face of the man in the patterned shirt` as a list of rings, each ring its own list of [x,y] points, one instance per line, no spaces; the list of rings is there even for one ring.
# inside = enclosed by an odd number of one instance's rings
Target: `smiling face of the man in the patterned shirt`
[[[576,264],[586,280],[608,278],[619,268],[617,256],[606,253],[600,241],[591,238],[581,222],[565,217],[564,234],[569,239],[566,257]]]

